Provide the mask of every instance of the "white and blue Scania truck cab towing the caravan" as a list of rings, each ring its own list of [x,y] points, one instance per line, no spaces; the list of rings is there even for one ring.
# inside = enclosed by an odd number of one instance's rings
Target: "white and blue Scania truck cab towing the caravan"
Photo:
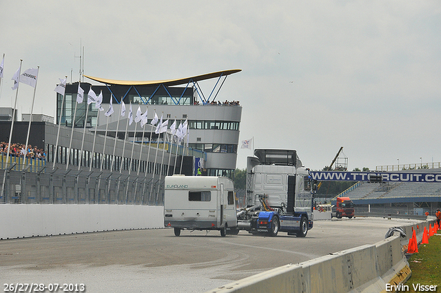
[[[238,227],[305,237],[313,227],[315,184],[296,150],[257,149],[247,158],[247,208]]]

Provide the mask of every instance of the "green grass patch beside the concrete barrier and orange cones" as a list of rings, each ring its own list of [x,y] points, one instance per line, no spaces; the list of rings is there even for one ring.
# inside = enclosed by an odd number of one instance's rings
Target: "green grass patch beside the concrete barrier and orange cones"
[[[441,292],[441,235],[433,235],[428,244],[420,244],[409,265],[412,271],[406,282],[409,292],[420,292],[413,290],[412,284],[438,285],[436,292]]]

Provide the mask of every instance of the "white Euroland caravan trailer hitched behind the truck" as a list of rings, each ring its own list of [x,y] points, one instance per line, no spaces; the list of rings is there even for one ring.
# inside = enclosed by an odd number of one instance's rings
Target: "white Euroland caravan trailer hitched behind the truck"
[[[234,185],[227,177],[183,176],[165,177],[164,225],[181,230],[220,230],[236,228]]]

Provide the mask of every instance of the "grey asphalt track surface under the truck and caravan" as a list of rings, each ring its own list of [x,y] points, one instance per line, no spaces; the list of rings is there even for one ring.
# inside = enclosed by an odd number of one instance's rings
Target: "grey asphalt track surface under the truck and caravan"
[[[218,231],[183,231],[176,237],[164,228],[2,240],[1,292],[7,292],[6,283],[83,283],[89,293],[205,292],[274,267],[373,244],[391,227],[418,222],[315,221],[305,238],[245,231],[225,237]]]

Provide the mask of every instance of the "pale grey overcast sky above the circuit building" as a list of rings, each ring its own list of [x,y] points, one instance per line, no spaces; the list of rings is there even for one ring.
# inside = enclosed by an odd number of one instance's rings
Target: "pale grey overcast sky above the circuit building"
[[[441,161],[438,0],[1,1],[0,11],[0,107],[13,105],[23,59],[23,70],[40,66],[34,113],[54,117],[54,88],[78,81],[82,45],[94,77],[243,70],[217,98],[243,106],[240,141],[297,150],[314,170],[340,146],[349,170]],[[21,83],[20,115],[32,94]],[[238,150],[238,168],[251,154]]]

